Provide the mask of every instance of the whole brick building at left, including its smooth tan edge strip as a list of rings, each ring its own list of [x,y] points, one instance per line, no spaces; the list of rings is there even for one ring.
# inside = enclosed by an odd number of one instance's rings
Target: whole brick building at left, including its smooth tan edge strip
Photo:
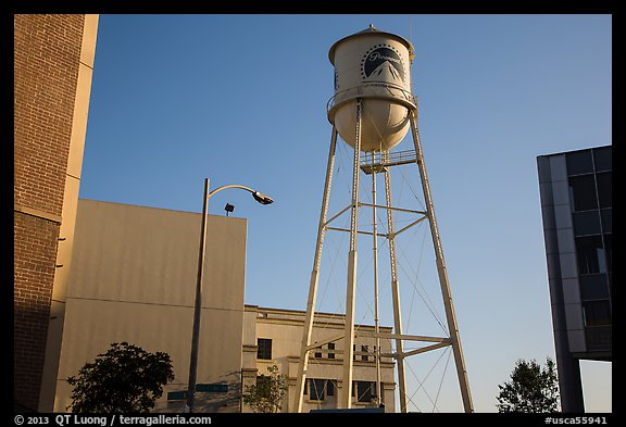
[[[98,15],[14,15],[13,399],[24,411],[52,409],[97,30]]]

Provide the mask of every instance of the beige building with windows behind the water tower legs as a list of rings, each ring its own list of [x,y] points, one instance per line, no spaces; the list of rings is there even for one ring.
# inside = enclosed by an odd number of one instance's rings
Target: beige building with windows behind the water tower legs
[[[241,367],[243,386],[253,384],[258,375],[267,375],[267,367],[276,365],[280,374],[287,376],[289,393],[283,402],[283,412],[288,412],[297,402],[296,379],[302,328],[303,311],[281,310],[246,305],[243,321],[243,365]],[[315,313],[312,342],[322,342],[343,332],[345,314]],[[355,325],[359,332],[374,332],[374,327]],[[383,332],[391,328],[380,327]],[[306,387],[304,388],[303,412],[337,407],[337,397],[341,382],[343,363],[343,340],[325,343],[309,359]],[[354,384],[352,387],[352,407],[376,405],[376,364],[374,351],[375,338],[358,338],[354,352]],[[390,340],[380,340],[380,352],[391,352]],[[395,389],[393,362],[390,356],[381,357],[380,380],[381,401],[386,412],[393,412]],[[243,412],[250,409],[243,407]]]

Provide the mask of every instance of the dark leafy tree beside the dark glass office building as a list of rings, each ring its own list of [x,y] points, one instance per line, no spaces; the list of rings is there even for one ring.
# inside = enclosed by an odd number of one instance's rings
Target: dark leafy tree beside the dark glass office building
[[[511,380],[499,385],[499,412],[556,412],[559,411],[559,388],[554,362],[546,359],[546,367],[537,361],[518,360],[511,374]]]

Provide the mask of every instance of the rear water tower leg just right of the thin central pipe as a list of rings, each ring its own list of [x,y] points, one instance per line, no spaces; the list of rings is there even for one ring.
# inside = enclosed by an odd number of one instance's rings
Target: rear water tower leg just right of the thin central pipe
[[[385,152],[387,161],[388,151]],[[385,199],[387,203],[387,229],[389,234],[389,261],[391,264],[391,299],[393,303],[393,331],[402,335],[402,316],[400,313],[400,286],[398,281],[398,259],[396,258],[396,239],[393,236],[393,213],[391,210],[391,175],[385,168]],[[406,375],[404,372],[404,349],[401,339],[396,340],[396,363],[398,365],[398,388],[400,398],[400,412],[409,411],[406,398]]]

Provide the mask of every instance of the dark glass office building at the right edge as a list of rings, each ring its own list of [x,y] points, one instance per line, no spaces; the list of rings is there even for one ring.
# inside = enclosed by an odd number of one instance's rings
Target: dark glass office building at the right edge
[[[563,412],[584,412],[579,360],[612,361],[612,147],[537,158]]]

